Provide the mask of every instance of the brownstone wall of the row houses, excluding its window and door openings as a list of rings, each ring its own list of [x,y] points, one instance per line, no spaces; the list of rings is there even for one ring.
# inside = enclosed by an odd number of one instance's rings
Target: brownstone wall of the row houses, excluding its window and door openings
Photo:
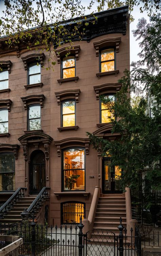
[[[10,152],[15,157],[14,190],[26,187],[31,194],[31,161],[34,151],[44,153],[41,176],[43,185],[50,187],[49,223],[61,224],[61,203],[85,203],[85,215],[88,217],[95,186],[102,189],[102,157],[96,152],[86,136],[86,132],[94,133],[106,139],[115,139],[118,134],[111,135],[110,123],[100,122],[99,95],[116,93],[121,88],[118,79],[130,66],[129,17],[127,7],[105,12],[107,20],[120,15],[126,22],[126,29],[120,32],[113,30],[95,38],[74,41],[72,56],[75,56],[75,76],[61,78],[61,60],[65,55],[63,45],[55,54],[56,65],[47,70],[48,52],[38,53],[34,48],[6,51],[0,49],[0,61],[8,70],[8,88],[0,90],[0,109],[8,111],[8,131],[0,134],[0,153]],[[111,11],[111,10],[110,10]],[[102,12],[103,14],[103,12]],[[121,16],[121,17],[122,17]],[[123,21],[126,16],[125,21]],[[113,21],[118,22],[118,21]],[[115,24],[115,23],[114,23]],[[100,29],[101,31],[101,29]],[[87,36],[88,37],[88,36]],[[99,54],[102,49],[113,48],[115,51],[115,68],[112,71],[100,72]],[[28,65],[39,56],[41,81],[28,85]],[[75,101],[75,125],[62,127],[61,102]],[[40,106],[41,125],[39,130],[28,129],[28,107]],[[63,152],[68,148],[85,150],[85,183],[82,189],[64,190]],[[44,181],[45,179],[45,181]],[[40,182],[41,182],[40,180]],[[2,190],[2,189],[1,189]],[[0,201],[6,200],[12,193],[3,189]],[[34,192],[32,192],[34,194]]]

